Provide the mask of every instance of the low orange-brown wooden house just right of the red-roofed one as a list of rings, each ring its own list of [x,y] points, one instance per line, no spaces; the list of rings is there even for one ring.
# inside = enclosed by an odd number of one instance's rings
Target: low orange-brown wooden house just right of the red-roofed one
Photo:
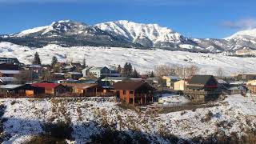
[[[70,92],[74,94],[80,94],[82,96],[97,96],[97,84],[88,84],[88,83],[63,83],[63,86],[70,87]]]

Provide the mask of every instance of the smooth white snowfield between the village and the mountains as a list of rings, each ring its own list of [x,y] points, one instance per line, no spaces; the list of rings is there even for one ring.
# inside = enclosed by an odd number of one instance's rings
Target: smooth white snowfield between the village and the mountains
[[[154,66],[198,66],[201,74],[215,74],[222,68],[225,74],[256,73],[256,58],[238,58],[222,54],[198,54],[169,50],[136,50],[126,48],[105,47],[62,47],[57,45],[43,48],[18,46],[9,42],[0,42],[1,57],[17,57],[18,60],[29,64],[34,53],[38,52],[42,63],[50,64],[55,55],[60,62],[82,62],[86,58],[89,66],[114,66],[131,64],[141,72],[154,69]]]

